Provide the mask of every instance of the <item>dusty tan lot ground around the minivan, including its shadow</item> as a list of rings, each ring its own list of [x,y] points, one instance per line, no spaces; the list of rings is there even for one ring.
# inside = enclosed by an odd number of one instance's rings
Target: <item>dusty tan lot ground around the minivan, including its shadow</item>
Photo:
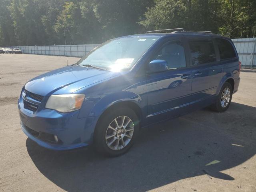
[[[68,58],[73,64],[78,58]],[[256,192],[256,71],[242,70],[224,113],[198,110],[143,129],[132,149],[56,152],[20,129],[22,86],[66,57],[0,54],[0,191]]]

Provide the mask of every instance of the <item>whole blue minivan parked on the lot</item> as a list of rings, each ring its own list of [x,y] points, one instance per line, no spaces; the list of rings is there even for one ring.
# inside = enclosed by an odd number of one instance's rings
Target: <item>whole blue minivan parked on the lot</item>
[[[206,106],[227,110],[240,66],[232,41],[217,34],[115,38],[72,66],[28,81],[18,100],[21,128],[45,148],[94,144],[118,156],[142,127]]]

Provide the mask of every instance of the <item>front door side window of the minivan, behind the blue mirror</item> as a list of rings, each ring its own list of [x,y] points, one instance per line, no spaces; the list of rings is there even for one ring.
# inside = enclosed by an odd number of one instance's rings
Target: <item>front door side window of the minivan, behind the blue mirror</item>
[[[185,52],[180,41],[166,44],[153,57],[153,60],[155,59],[167,61],[169,69],[186,67]]]

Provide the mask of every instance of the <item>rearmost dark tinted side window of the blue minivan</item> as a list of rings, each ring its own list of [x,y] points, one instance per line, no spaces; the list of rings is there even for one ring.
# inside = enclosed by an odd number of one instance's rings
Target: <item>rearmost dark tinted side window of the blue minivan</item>
[[[226,39],[216,38],[216,42],[220,52],[220,59],[236,58],[236,52],[233,46]]]

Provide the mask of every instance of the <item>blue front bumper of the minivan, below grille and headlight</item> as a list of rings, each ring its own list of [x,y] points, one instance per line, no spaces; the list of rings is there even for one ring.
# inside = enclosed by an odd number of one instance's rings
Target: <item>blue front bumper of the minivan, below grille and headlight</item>
[[[22,131],[40,146],[52,150],[69,150],[92,143],[96,117],[78,118],[79,111],[59,113],[42,109],[30,113],[18,100],[18,109]],[[32,131],[31,131],[32,130]],[[32,134],[34,132],[37,134]],[[58,142],[48,139],[58,137]]]

